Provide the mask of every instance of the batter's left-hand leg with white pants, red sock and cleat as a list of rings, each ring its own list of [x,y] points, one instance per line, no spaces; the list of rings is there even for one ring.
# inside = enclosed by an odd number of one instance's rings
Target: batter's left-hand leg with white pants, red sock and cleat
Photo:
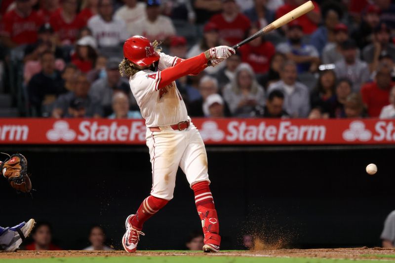
[[[150,132],[147,146],[152,165],[152,190],[141,203],[136,214],[125,222],[126,232],[122,239],[123,248],[135,252],[144,222],[155,215],[173,198],[178,163],[182,155],[184,135],[179,132]]]

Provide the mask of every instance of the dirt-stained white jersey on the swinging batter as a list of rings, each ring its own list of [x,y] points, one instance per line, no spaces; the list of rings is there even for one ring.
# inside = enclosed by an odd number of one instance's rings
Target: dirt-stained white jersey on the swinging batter
[[[160,71],[174,66],[177,57],[159,53],[158,71],[139,71],[129,79],[130,89],[147,127],[176,124],[188,119],[187,108],[175,81],[158,89]]]

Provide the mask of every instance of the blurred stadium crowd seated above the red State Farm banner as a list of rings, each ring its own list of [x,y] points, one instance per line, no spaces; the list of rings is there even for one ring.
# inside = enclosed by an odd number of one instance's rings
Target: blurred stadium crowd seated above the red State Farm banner
[[[118,71],[126,38],[189,58],[232,46],[304,2],[3,0],[0,115],[141,118]],[[393,1],[313,2],[218,67],[180,78],[190,116],[395,117]]]

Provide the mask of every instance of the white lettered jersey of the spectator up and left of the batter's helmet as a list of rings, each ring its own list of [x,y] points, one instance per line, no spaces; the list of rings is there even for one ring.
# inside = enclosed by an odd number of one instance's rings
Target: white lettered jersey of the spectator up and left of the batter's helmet
[[[106,22],[100,15],[94,15],[88,20],[88,28],[100,47],[119,46],[129,37],[125,22],[117,17]]]

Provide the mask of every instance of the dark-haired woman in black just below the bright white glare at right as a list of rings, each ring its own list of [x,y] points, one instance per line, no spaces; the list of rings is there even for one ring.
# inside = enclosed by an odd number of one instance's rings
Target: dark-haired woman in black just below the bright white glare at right
[[[336,75],[332,70],[319,73],[318,82],[310,96],[312,108],[323,108],[325,102],[335,94]]]

